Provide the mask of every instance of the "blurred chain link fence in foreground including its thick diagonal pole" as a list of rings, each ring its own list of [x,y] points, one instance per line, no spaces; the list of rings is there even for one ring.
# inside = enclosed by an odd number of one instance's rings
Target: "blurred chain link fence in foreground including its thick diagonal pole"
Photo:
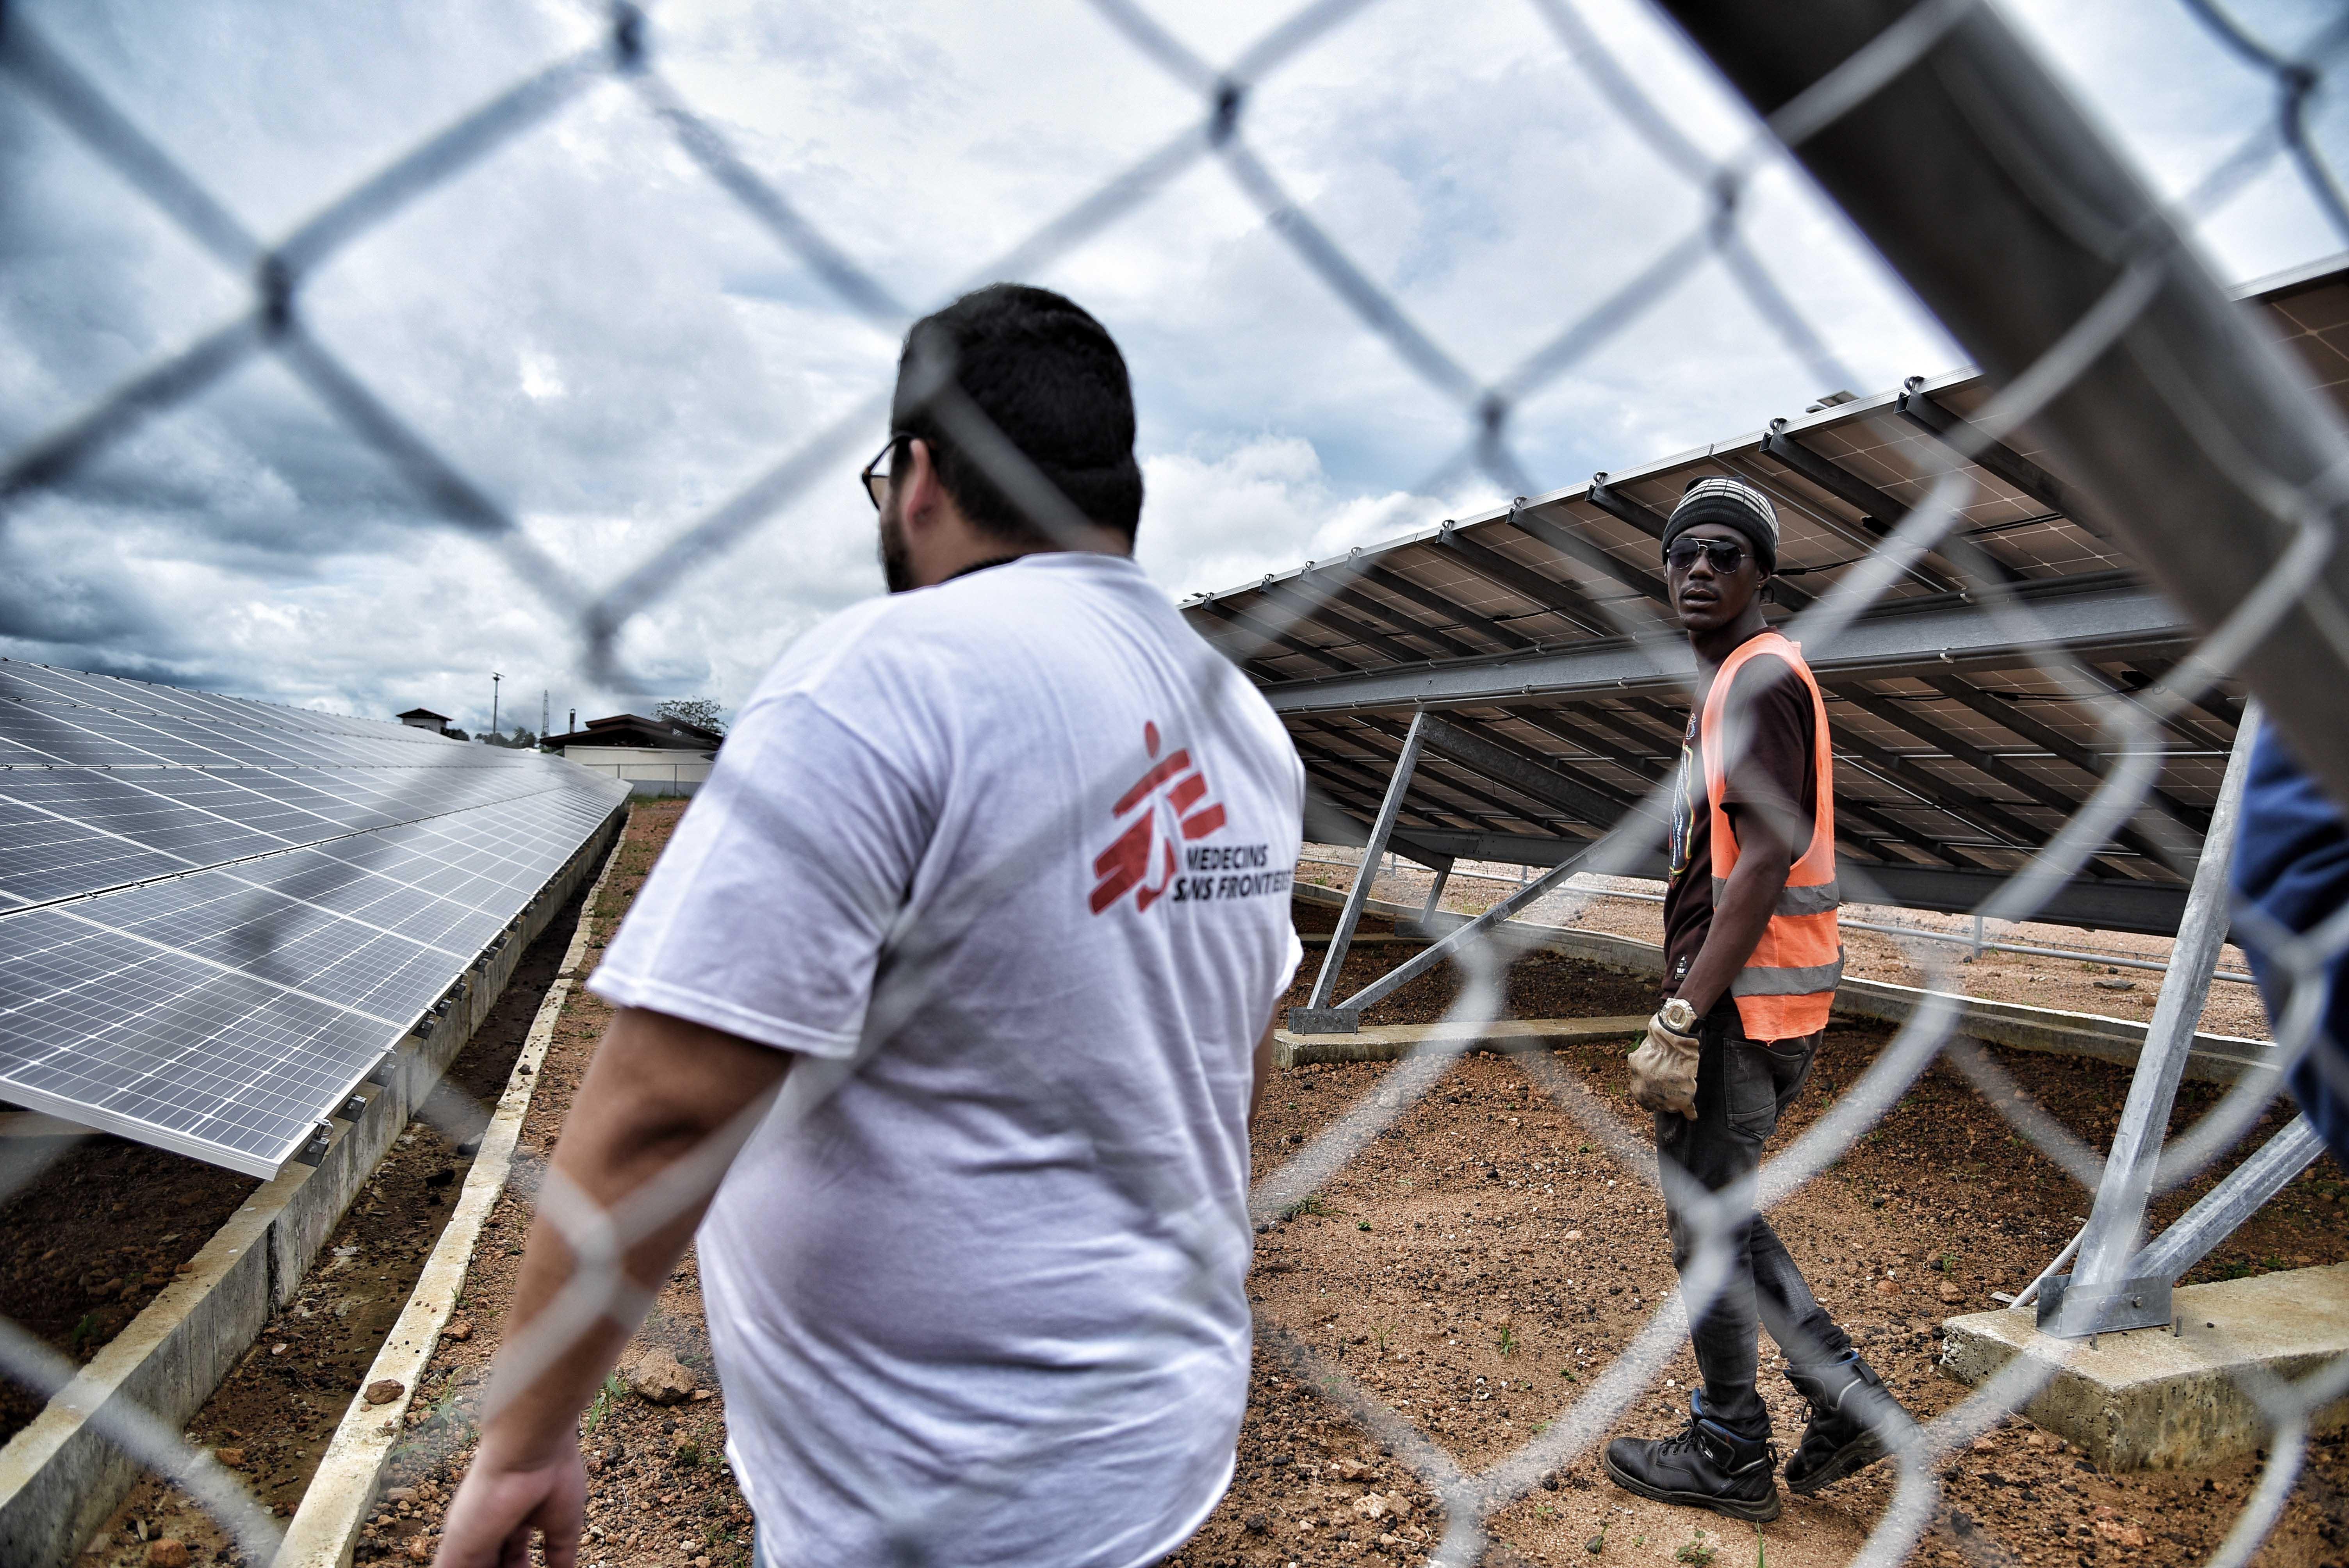
[[[2255,343],[2232,307],[2217,307],[2213,315],[2210,300],[2220,298],[2217,289],[2203,277],[2185,239],[2201,214],[2283,164],[2297,174],[2349,244],[2342,178],[2309,129],[2311,110],[2335,87],[2340,56],[2349,49],[2349,16],[2328,21],[2307,42],[2279,45],[2215,0],[2175,0],[2208,31],[2215,49],[2269,75],[2274,113],[2243,127],[2241,143],[2175,209],[2163,211],[2145,200],[2133,181],[2123,178],[2119,185],[2109,181],[2105,171],[2119,164],[2077,113],[2046,110],[2044,82],[2032,75],[2027,61],[2018,66],[2022,52],[2004,21],[1976,0],[1914,5],[1839,0],[1809,7],[1802,21],[1771,23],[1778,28],[1776,35],[1757,35],[1752,28],[1759,23],[1741,28],[1736,21],[1698,16],[1696,7],[1668,5],[1665,9],[1677,14],[1759,110],[1752,136],[1729,157],[1703,153],[1698,138],[1675,124],[1672,108],[1658,103],[1637,75],[1609,54],[1574,0],[1529,2],[1564,45],[1579,73],[1560,80],[1557,89],[1602,101],[1680,181],[1703,192],[1703,214],[1640,265],[1621,289],[1602,298],[1560,300],[1560,324],[1546,336],[1529,338],[1525,352],[1501,373],[1480,373],[1419,326],[1407,305],[1315,223],[1306,204],[1283,183],[1280,171],[1250,141],[1250,110],[1259,85],[1285,61],[1315,49],[1334,28],[1369,9],[1369,0],[1304,5],[1226,63],[1200,59],[1132,0],[1092,0],[1099,16],[1142,59],[1196,99],[1196,120],[980,268],[972,282],[1034,275],[1076,254],[1193,167],[1217,164],[1294,251],[1299,265],[1344,303],[1360,331],[1374,333],[1433,397],[1459,411],[1456,453],[1412,486],[1414,493],[1433,493],[1475,472],[1510,495],[1527,495],[1541,486],[1513,451],[1513,418],[1525,401],[1588,364],[1602,345],[1658,310],[1661,300],[1701,268],[1719,268],[1820,385],[1858,385],[1858,378],[1839,364],[1830,333],[1792,303],[1745,230],[1755,181],[1764,171],[1781,169],[1792,155],[1853,214],[1992,373],[1999,392],[1966,437],[1976,444],[1973,451],[2027,423],[2034,423],[2034,430],[2041,425],[2067,430],[2074,451],[2084,441],[2114,439],[2105,460],[2086,465],[2074,479],[2116,519],[2119,530],[2152,563],[2156,580],[2185,603],[2206,634],[2194,657],[2145,692],[2114,692],[2060,650],[2037,655],[2055,690],[2069,692],[2100,716],[2109,753],[2121,761],[2102,786],[2079,803],[2069,824],[2044,852],[1980,913],[1994,920],[2030,918],[2065,878],[2079,871],[2114,829],[2147,803],[2156,763],[2149,761],[2152,746],[2142,742],[2154,739],[2166,716],[2180,711],[2222,674],[2248,678],[2318,775],[2337,793],[2349,796],[2349,725],[2333,723],[2335,704],[2349,690],[2349,681],[2328,688],[2318,678],[2279,678],[2279,671],[2295,667],[2318,674],[2349,669],[2349,617],[2335,599],[2344,577],[2335,528],[2349,493],[2349,448],[2342,446],[2337,420],[2314,406],[2311,394],[2274,352]],[[592,47],[547,63],[453,124],[423,136],[291,232],[265,239],[209,192],[171,148],[157,146],[78,73],[45,40],[35,21],[19,7],[0,7],[0,89],[40,106],[70,129],[89,153],[143,192],[155,211],[247,289],[235,315],[40,439],[7,453],[0,462],[0,526],[7,526],[12,507],[68,484],[120,448],[143,423],[202,397],[240,366],[268,357],[308,387],[355,441],[388,460],[409,481],[420,507],[449,528],[505,552],[521,580],[540,584],[543,615],[576,631],[585,669],[599,683],[625,685],[618,655],[622,627],[674,594],[693,566],[766,528],[808,486],[836,481],[881,430],[888,387],[876,387],[867,401],[799,439],[749,486],[679,528],[648,559],[615,580],[594,582],[578,563],[533,542],[489,486],[467,477],[371,387],[366,366],[350,364],[312,331],[305,286],[327,263],[350,246],[366,244],[371,232],[435,188],[540,134],[550,117],[592,87],[618,82],[637,94],[674,136],[677,148],[770,235],[775,246],[820,277],[846,310],[883,331],[902,331],[916,310],[874,270],[860,265],[848,246],[810,223],[785,185],[745,160],[726,131],[695,110],[662,73],[658,38],[658,16],[637,5],[613,5],[604,12],[601,38]],[[1882,124],[1872,120],[1875,115],[1910,108],[1919,94],[1938,94],[1936,101],[1947,103],[1947,113],[1917,115],[1905,153],[1926,164],[1940,160],[1943,171],[1957,169],[1966,157],[1957,146],[1961,138],[1945,138],[1945,146],[1933,136],[1943,134],[1945,124],[1966,122],[1968,134],[1985,146],[1994,143],[1994,157],[2004,160],[2004,195],[1968,207],[1966,185],[1959,181],[1945,185],[1959,195],[1938,211],[1914,207],[1893,211],[1898,202],[1879,200],[1882,190],[1872,190],[1867,169],[1860,169],[1865,162],[1858,150],[1865,141],[1860,129]],[[2015,103],[2037,108],[2020,113]],[[2081,176],[2081,169],[2098,171],[2098,178]],[[1999,242],[1999,223],[2011,216],[1999,211],[2001,200],[2030,209],[2039,230],[2055,237],[2048,244],[2069,246],[2067,254],[2086,258],[2093,268],[2086,263],[2074,268],[2069,286],[2058,289],[2048,282],[2060,270],[2055,263],[2039,270],[2022,265],[2030,261],[2025,256],[2004,277],[1980,265],[1985,244]],[[2020,322],[2030,331],[2018,336],[2022,326],[2015,326],[1999,336],[1987,326],[1978,331],[1978,322]],[[2121,361],[2135,378],[2131,394],[2112,387],[2114,364]],[[1038,528],[1055,533],[1083,521],[958,394],[951,364],[916,359],[911,373],[951,437],[987,465]],[[2217,394],[2213,390],[2236,394],[2246,387],[2248,401],[2241,408],[2213,408]],[[2187,486],[2192,493],[2180,491],[2170,505],[2163,505],[2161,495],[2154,495],[2152,505],[2138,505],[2142,495],[2112,488],[2116,469],[2140,465],[2159,479],[2175,479],[2178,465],[2187,460],[2173,451],[2175,441],[2159,420],[2131,423],[2131,415],[2142,415],[2145,408],[2168,411],[2173,423],[2189,427],[2194,448],[2189,460],[2206,469],[2196,479],[2199,488]],[[2246,434],[2246,420],[2281,427],[2283,434],[2274,430]],[[1790,636],[1813,648],[1832,643],[1926,552],[1945,552],[1961,568],[1968,566],[1966,542],[1952,530],[1968,491],[1964,451],[1961,446],[1950,455],[1950,467],[1931,498],[1788,627]],[[2227,530],[2213,530],[2206,523],[2210,512],[2201,505],[2201,498],[2210,495],[2210,484],[2222,486],[2234,502],[2234,509],[2225,512],[2234,533],[2220,540],[2208,535]],[[2206,554],[2229,540],[2236,549],[2232,566],[2203,570]],[[2178,566],[2166,568],[2173,556]],[[2053,638],[2060,631],[2058,610],[2020,601],[1987,566],[1966,575],[1966,589],[2013,627],[2018,646],[2058,648]],[[1623,624],[1621,631],[1654,636],[1644,622]],[[1200,690],[1210,690],[1210,671],[1200,674]],[[1123,777],[1102,779],[1111,793],[1123,782]],[[1626,869],[1656,836],[1663,803],[1658,789],[1593,854],[1581,857],[1579,869],[1590,873]],[[1071,803],[1069,815],[1055,822],[1055,836],[1064,833],[1069,840],[1083,836],[1088,824],[1081,824],[1076,812],[1078,805]],[[963,911],[958,918],[987,918],[994,897],[1024,880],[1029,864],[1027,852],[1005,857],[1003,887],[965,890],[956,901]],[[1846,897],[1870,899],[1870,890],[1858,887]],[[2246,913],[2236,920],[2239,939],[2264,951],[2290,976],[2290,1005],[2276,1019],[2279,1061],[2288,1066],[2309,1052],[2321,1026],[2326,972],[2349,948],[2349,911],[2340,911],[2309,934],[2262,927]],[[937,995],[933,976],[940,967],[935,953],[954,939],[951,927],[933,927],[923,941],[940,946],[928,955],[900,955],[881,995],[874,998],[869,1042],[886,1042],[893,1019],[902,1021],[916,1009],[951,1007],[951,998]],[[1466,986],[1447,1021],[1492,1021],[1501,1012],[1501,974],[1513,955],[1506,927],[1463,944],[1454,960],[1466,972]],[[1954,988],[1929,984],[1933,991]],[[1590,1096],[1569,1094],[1564,1070],[1548,1054],[1515,1056],[1527,1077],[1628,1171],[1656,1185],[1682,1188],[1672,1199],[1691,1216],[1698,1246],[1682,1272],[1677,1298],[1651,1317],[1602,1376],[1579,1387],[1539,1437],[1499,1465],[1466,1469],[1421,1434],[1409,1415],[1278,1326],[1259,1326],[1259,1340],[1285,1359],[1299,1383],[1360,1422],[1438,1493],[1447,1523],[1433,1547],[1433,1561],[1478,1561],[1487,1545],[1487,1521],[1499,1509],[1522,1498],[1546,1472],[1586,1453],[1656,1387],[1661,1368],[1687,1340],[1691,1310],[1701,1312],[1722,1289],[1729,1249],[1741,1244],[1750,1207],[1769,1209],[1818,1176],[1938,1059],[1950,1056],[1973,1082],[1992,1091],[1990,1099],[2015,1131],[2077,1181],[2086,1188],[2100,1181],[2105,1160],[2095,1150],[2081,1148],[2048,1117],[2018,1106],[2011,1094],[1994,1094],[2001,1077],[1997,1063],[1957,1040],[1957,1023],[1954,1007],[1929,1000],[1832,1110],[1776,1155],[1755,1183],[1724,1192],[1696,1190],[1670,1162],[1658,1167],[1647,1136],[1623,1127]],[[1381,1094],[1353,1106],[1285,1164],[1261,1174],[1252,1199],[1254,1216],[1276,1216],[1311,1197],[1402,1115],[1405,1106],[1423,1096],[1456,1054],[1459,1045],[1426,1045],[1398,1063],[1384,1080]],[[1027,1089],[1041,1096],[1062,1094],[1043,1068]],[[2152,1176],[2154,1188],[2187,1181],[2222,1155],[2274,1094],[2276,1080],[2269,1075],[2239,1082],[2189,1136],[2161,1155],[2159,1174]],[[620,1258],[632,1244],[702,1202],[763,1115],[768,1115],[763,1103],[747,1108],[721,1138],[709,1141],[615,1211],[587,1202],[559,1174],[547,1176],[540,1190],[540,1223],[557,1230],[583,1263],[557,1303],[505,1345],[489,1408],[552,1366],[578,1333],[606,1319],[634,1322],[641,1314],[646,1289],[627,1277]],[[1116,1138],[1113,1129],[1097,1134],[1111,1143]],[[1184,1237],[1200,1289],[1245,1258],[1247,1230],[1236,1216],[1203,1209],[1196,1195],[1160,1190],[1146,1162],[1116,1162],[1116,1169],[1120,1181],[1132,1185],[1130,1199]],[[1137,1331],[1137,1343],[1144,1340],[1146,1336]],[[61,1357],[14,1326],[0,1326],[0,1359],[14,1378],[42,1392],[61,1387],[73,1376]],[[1898,1486],[1858,1561],[1903,1559],[1931,1526],[1938,1467],[2027,1401],[2053,1371],[2055,1366],[2044,1359],[2015,1359],[1940,1418],[1891,1432]],[[2271,1439],[2262,1481],[2213,1556],[2227,1566],[2248,1561],[2279,1519],[2307,1455],[2311,1415],[2349,1392],[2349,1359],[2297,1380],[2255,1378],[2246,1383],[2246,1392],[2264,1411]],[[1029,1432],[998,1462],[1005,1469],[1034,1462],[1085,1418],[1088,1411],[1069,1411],[1066,1422]],[[110,1420],[115,1441],[214,1509],[251,1561],[270,1559],[275,1523],[254,1507],[237,1476],[186,1446],[167,1422]],[[855,1469],[855,1455],[841,1458]],[[987,1495],[989,1476],[972,1474],[944,1502],[888,1495],[876,1495],[871,1502],[897,1521],[904,1561],[942,1561],[940,1542],[954,1540],[956,1512],[982,1507]]]

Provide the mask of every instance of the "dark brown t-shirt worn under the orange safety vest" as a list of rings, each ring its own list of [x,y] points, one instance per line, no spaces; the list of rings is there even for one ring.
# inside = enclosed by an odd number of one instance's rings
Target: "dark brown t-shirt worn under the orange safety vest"
[[[1680,779],[1672,791],[1672,838],[1665,845],[1670,880],[1663,887],[1663,995],[1696,965],[1696,953],[1712,932],[1712,812],[1705,807],[1705,758],[1696,737],[1703,695],[1689,711],[1689,730],[1680,742]],[[1788,843],[1799,857],[1811,843],[1811,817],[1818,812],[1818,768],[1811,758],[1811,690],[1788,669],[1785,660],[1755,655],[1738,669],[1722,709],[1724,744],[1738,756],[1738,735],[1752,725],[1743,756],[1731,763],[1722,805],[1748,810],[1795,807]],[[1722,995],[1712,1016],[1731,1021],[1736,1005]]]

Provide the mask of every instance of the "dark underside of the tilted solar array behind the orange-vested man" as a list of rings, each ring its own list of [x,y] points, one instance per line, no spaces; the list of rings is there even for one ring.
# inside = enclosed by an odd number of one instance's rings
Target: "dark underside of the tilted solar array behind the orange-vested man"
[[[2349,408],[2349,258],[2241,291]],[[1771,420],[1766,430],[1445,521],[1184,603],[1283,716],[1313,784],[1308,836],[1362,843],[1412,716],[1433,725],[1393,847],[1557,864],[1677,765],[1694,671],[1658,538],[1691,479],[1727,474],[1778,507],[1773,622],[1825,594],[1907,516],[1990,399],[1973,371]],[[2109,690],[2159,681],[2194,646],[2093,512],[2077,516],[2030,427],[1966,465],[1973,500],[1940,552],[1809,648],[1837,742],[1842,857],[1893,901],[1973,908],[2086,800],[2109,758],[2095,711],[2034,653],[2062,648]],[[2018,638],[1966,592],[1952,552],[2006,580]],[[2227,681],[2166,725],[2161,777],[2041,918],[2175,930],[2243,711]],[[1661,831],[1658,831],[1661,845]],[[1661,876],[1661,854],[1637,873]]]

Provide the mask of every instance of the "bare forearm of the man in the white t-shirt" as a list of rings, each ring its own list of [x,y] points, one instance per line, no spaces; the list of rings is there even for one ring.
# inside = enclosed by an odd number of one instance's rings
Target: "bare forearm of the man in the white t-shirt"
[[[613,1216],[630,1195],[712,1138],[747,1131],[740,1113],[773,1089],[787,1063],[782,1052],[719,1030],[622,1009],[573,1101],[552,1176]],[[561,1298],[578,1277],[578,1258],[564,1228],[550,1218],[559,1209],[540,1204],[514,1284],[507,1357],[531,1340],[533,1329],[561,1336],[566,1347],[529,1385],[500,1390],[505,1404],[484,1430],[486,1448],[507,1465],[531,1465],[576,1441],[580,1411],[634,1331],[641,1303],[684,1256],[719,1174],[723,1162],[677,1192],[667,1218],[620,1256],[620,1277],[590,1282],[594,1289],[585,1310]],[[536,1357],[529,1361],[538,1364]]]

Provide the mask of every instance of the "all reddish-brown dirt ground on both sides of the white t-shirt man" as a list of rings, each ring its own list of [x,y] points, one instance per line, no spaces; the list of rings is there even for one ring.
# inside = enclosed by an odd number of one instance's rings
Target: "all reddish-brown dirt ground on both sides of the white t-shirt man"
[[[674,805],[637,810],[599,918],[615,918],[634,897],[677,815]],[[1297,908],[1301,932],[1325,932],[1330,915],[1318,906]],[[1348,981],[1369,979],[1407,951],[1386,922],[1367,920],[1365,934],[1391,941],[1362,948],[1348,962]],[[1308,981],[1311,965],[1285,1005],[1301,1002]],[[1374,1021],[1426,1021],[1449,1005],[1454,986],[1447,972],[1428,974],[1377,1009]],[[1508,1009],[1520,1016],[1628,1016],[1651,1007],[1654,981],[1579,960],[1536,953],[1508,974]],[[531,1192],[604,1019],[601,1002],[576,993],[557,1026],[512,1183],[484,1232],[456,1314],[470,1336],[444,1340],[423,1378],[409,1441],[395,1453],[383,1505],[359,1547],[362,1563],[430,1559],[442,1509],[477,1437],[474,1408],[500,1343]],[[1884,1028],[1832,1028],[1813,1084],[1773,1148],[1842,1094],[1886,1038]],[[1644,1117],[1621,1091],[1626,1045],[1590,1042],[1553,1052],[1550,1061],[1567,1075],[1569,1094],[1644,1136]],[[2048,1115],[2091,1143],[2109,1141],[2126,1073],[2022,1052],[1997,1052],[1997,1061]],[[1283,1073],[1257,1129],[1259,1174],[1348,1106],[1374,1096],[1388,1073],[1384,1063]],[[2178,1122],[2213,1099],[2213,1087],[2187,1084]],[[2269,1117],[2246,1145],[2274,1122]],[[2192,1202],[2201,1185],[2161,1199],[2156,1223]],[[2189,1279],[2349,1258],[2344,1199],[2342,1171],[2321,1162]],[[416,1249],[428,1246],[437,1228],[432,1209],[418,1209],[413,1195],[388,1192],[362,1207],[383,1209],[376,1216],[383,1221],[404,1214],[409,1230],[395,1235]],[[2018,1141],[1961,1077],[1936,1068],[1773,1221],[1867,1359],[1912,1411],[1933,1415],[1966,1394],[1936,1368],[1940,1319],[1990,1307],[1992,1289],[2025,1284],[2081,1214],[2086,1195]],[[336,1244],[345,1244],[343,1237]],[[1442,1533],[1426,1486],[1322,1397],[1313,1366],[1285,1361],[1283,1345],[1325,1357],[1463,1467],[1480,1469],[1588,1390],[1665,1305],[1670,1289],[1658,1202],[1635,1169],[1616,1164],[1604,1141],[1534,1091],[1513,1061],[1463,1059],[1322,1192],[1257,1237],[1250,1293],[1264,1331],[1233,1488],[1172,1561],[1191,1568],[1384,1568],[1426,1561]],[[341,1293],[348,1291],[343,1284]],[[315,1317],[317,1305],[310,1322]],[[298,1404],[291,1385],[256,1380],[254,1366],[268,1364],[275,1343],[291,1343],[280,1326],[240,1371],[256,1397],[240,1406],[247,1420],[216,1418],[226,1406],[214,1401],[195,1425],[202,1441],[247,1448],[240,1458],[256,1481],[287,1472],[289,1460],[270,1458],[251,1434],[272,1432],[263,1425],[272,1411],[287,1422],[312,1408]],[[684,1404],[655,1406],[618,1378],[606,1383],[580,1439],[592,1472],[583,1561],[738,1568],[749,1561],[749,1514],[721,1458],[723,1394],[709,1371],[691,1253],[662,1289],[632,1354],[651,1347],[672,1352],[700,1387]],[[291,1350],[282,1359],[298,1366]],[[1691,1376],[1682,1350],[1663,1368],[1668,1383],[1644,1392],[1616,1432],[1658,1437],[1677,1430]],[[315,1406],[315,1441],[324,1441],[355,1378],[357,1368],[341,1383],[343,1392]],[[275,1404],[261,1399],[270,1387]],[[1790,1451],[1802,1406],[1769,1361],[1764,1397],[1778,1444]],[[2225,1535],[2255,1479],[2253,1460],[2114,1476],[2030,1422],[2008,1420],[1945,1467],[1933,1528],[1912,1561],[1966,1568],[2192,1561]],[[1590,1451],[1499,1516],[1487,1561],[1703,1568],[1712,1561],[1708,1554],[1717,1554],[1724,1568],[1842,1563],[1882,1514],[1889,1488],[1886,1467],[1877,1467],[1813,1500],[1788,1500],[1783,1519],[1755,1530],[1630,1498],[1604,1481]],[[136,1514],[139,1507],[146,1514]],[[120,1530],[136,1516],[150,1533],[183,1530],[197,1545],[195,1561],[214,1561],[218,1547],[186,1521],[186,1512],[183,1502],[148,1486],[113,1528],[122,1540]],[[2344,1519],[2349,1446],[2328,1439],[2314,1448],[2286,1521],[2257,1561],[2267,1568],[2349,1563]],[[124,1549],[101,1561],[139,1556]]]

